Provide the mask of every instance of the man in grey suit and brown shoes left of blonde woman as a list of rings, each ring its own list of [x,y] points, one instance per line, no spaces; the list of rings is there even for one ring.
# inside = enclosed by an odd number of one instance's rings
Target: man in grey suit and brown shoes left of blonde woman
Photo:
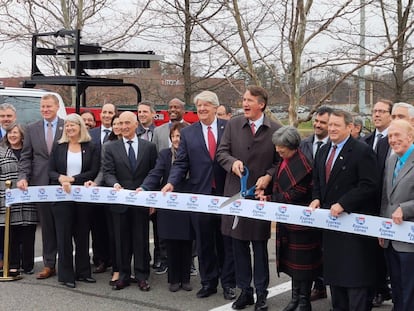
[[[23,149],[19,162],[19,181],[22,190],[30,186],[49,184],[49,156],[53,144],[60,139],[64,121],[57,116],[59,99],[47,94],[40,100],[40,113],[43,120],[31,123],[26,128]],[[51,204],[38,204],[38,215],[42,227],[43,270],[38,279],[46,279],[56,274],[57,240],[55,221]]]

